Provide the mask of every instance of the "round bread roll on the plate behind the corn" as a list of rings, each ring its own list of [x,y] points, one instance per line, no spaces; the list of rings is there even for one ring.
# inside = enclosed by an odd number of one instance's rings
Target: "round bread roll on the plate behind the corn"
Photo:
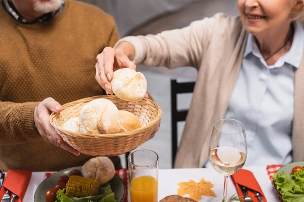
[[[107,157],[96,157],[82,167],[84,177],[96,179],[100,184],[108,183],[115,175],[115,167]]]

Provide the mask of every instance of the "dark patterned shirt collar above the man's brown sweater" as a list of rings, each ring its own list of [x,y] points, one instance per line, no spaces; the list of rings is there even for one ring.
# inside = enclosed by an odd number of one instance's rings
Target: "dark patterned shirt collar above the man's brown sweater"
[[[63,10],[64,5],[65,5],[64,1],[65,0],[61,0],[61,7],[58,10],[51,12],[51,13],[46,13],[34,20],[27,20],[27,19],[23,18],[19,14],[19,12],[16,10],[16,8],[8,2],[8,0],[3,0],[3,4],[4,4],[6,11],[18,22],[20,22],[22,24],[34,24],[34,23],[39,23],[39,22],[47,22],[47,21],[54,19],[54,17]]]

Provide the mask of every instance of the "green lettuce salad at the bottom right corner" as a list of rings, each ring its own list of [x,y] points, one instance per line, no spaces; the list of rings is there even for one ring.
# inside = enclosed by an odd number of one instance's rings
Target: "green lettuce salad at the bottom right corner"
[[[284,172],[279,175],[275,173],[273,179],[283,202],[304,201],[304,169],[291,175],[291,179]]]

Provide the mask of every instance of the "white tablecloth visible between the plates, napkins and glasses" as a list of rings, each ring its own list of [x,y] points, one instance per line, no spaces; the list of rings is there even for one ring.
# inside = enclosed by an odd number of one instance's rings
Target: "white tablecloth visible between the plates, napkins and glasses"
[[[253,172],[253,175],[261,186],[261,189],[265,194],[267,201],[279,201],[275,194],[271,181],[267,175],[265,167],[245,167],[244,169]],[[33,201],[35,190],[38,185],[43,181],[43,177],[44,172],[32,173],[29,186],[26,190],[23,199],[24,202]],[[159,200],[161,200],[165,196],[177,194],[177,189],[179,188],[177,184],[179,182],[187,182],[189,179],[199,182],[202,177],[204,177],[206,181],[211,181],[211,183],[214,184],[214,187],[212,189],[217,195],[217,198],[222,198],[223,176],[213,169],[161,169],[159,170]],[[231,196],[236,193],[237,192],[235,185],[233,184],[232,180],[229,179],[227,196]],[[214,199],[214,197],[203,196],[200,202],[212,201],[212,199]]]

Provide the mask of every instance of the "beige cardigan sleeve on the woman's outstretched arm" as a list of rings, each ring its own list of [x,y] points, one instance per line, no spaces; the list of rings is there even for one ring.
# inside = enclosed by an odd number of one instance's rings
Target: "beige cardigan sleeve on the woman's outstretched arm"
[[[136,65],[199,68],[215,24],[223,18],[223,14],[217,14],[194,21],[182,29],[163,31],[157,35],[127,36],[119,40],[115,47],[122,41],[130,42],[135,49],[133,62]]]

